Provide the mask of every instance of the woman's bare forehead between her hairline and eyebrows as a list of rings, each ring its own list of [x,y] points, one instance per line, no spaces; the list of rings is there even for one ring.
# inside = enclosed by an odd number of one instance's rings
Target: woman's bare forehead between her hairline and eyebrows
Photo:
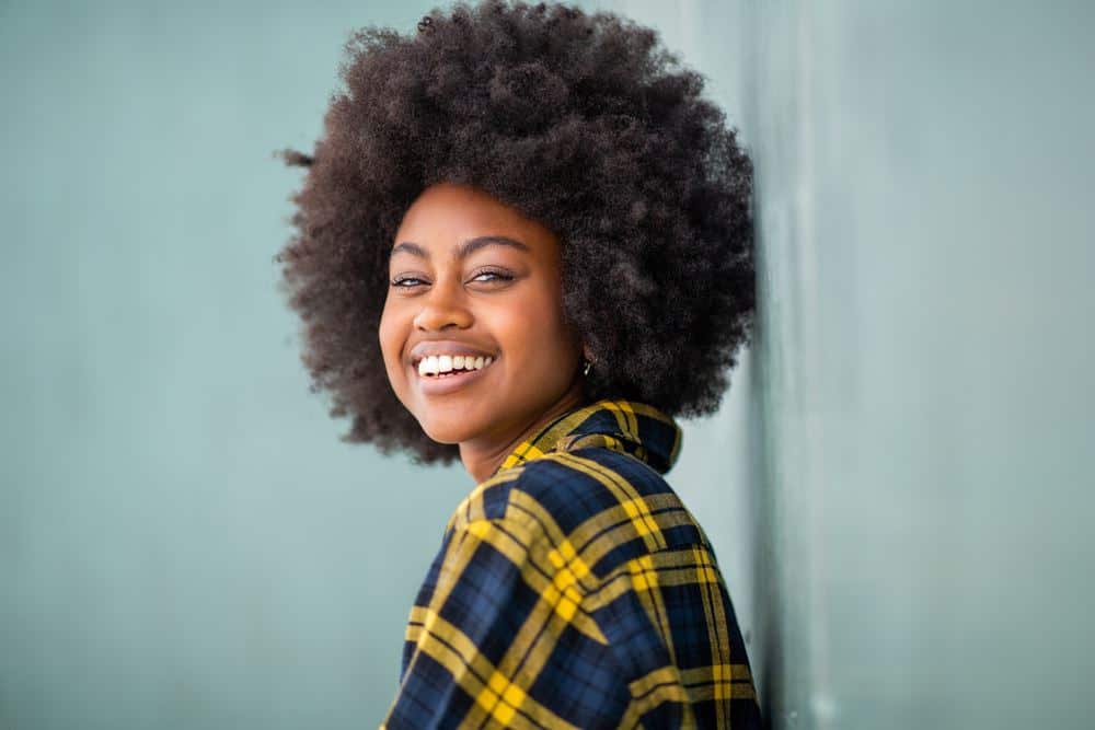
[[[415,199],[393,243],[445,250],[485,235],[520,241],[534,256],[558,255],[558,239],[546,227],[483,190],[451,183],[433,185]]]

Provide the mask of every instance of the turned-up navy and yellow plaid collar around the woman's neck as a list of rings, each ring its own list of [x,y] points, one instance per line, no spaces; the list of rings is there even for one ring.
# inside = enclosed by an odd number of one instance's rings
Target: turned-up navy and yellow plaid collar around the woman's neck
[[[601,399],[561,416],[522,441],[495,474],[553,451],[589,447],[629,453],[665,474],[680,453],[681,429],[672,418],[644,403]]]

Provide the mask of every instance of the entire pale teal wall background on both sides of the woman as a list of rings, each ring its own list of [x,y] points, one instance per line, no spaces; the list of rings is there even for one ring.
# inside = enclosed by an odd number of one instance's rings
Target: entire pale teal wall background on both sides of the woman
[[[0,3],[3,730],[383,715],[472,485],[308,392],[270,153],[433,4]],[[758,341],[670,476],[775,725],[1090,725],[1095,11],[585,4],[757,162]]]

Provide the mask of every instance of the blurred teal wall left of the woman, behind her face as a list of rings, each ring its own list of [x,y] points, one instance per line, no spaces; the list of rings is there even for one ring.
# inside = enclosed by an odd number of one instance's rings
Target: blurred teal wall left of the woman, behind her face
[[[0,4],[0,728],[379,722],[472,485],[308,392],[272,152],[428,8]]]

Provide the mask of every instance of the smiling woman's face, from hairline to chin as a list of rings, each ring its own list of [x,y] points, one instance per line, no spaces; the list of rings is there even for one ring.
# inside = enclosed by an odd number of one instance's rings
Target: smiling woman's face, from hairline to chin
[[[384,368],[429,438],[461,453],[507,444],[580,392],[560,242],[540,223],[482,190],[435,185],[407,209],[389,274]]]

